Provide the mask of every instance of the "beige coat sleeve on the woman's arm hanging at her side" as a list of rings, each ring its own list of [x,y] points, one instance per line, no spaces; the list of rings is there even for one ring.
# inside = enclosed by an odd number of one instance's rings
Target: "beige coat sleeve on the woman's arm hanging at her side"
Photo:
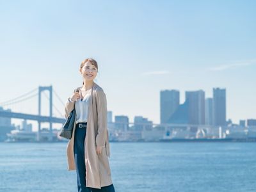
[[[107,139],[108,109],[106,94],[103,90],[96,93],[98,132],[96,136],[96,146],[105,147]]]

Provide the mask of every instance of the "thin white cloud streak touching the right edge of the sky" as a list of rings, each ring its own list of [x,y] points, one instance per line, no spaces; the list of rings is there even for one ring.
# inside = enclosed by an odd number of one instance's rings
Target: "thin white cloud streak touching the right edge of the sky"
[[[221,70],[227,70],[230,68],[246,67],[246,66],[255,65],[255,64],[256,64],[256,60],[234,61],[234,63],[220,65],[218,67],[212,67],[212,68],[209,68],[208,70],[221,71]]]

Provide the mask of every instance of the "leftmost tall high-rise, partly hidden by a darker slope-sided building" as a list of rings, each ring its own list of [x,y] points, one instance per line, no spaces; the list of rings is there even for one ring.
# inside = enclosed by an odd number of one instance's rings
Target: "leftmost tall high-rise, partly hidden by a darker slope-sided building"
[[[179,90],[163,90],[160,92],[160,122],[167,124],[180,104]]]

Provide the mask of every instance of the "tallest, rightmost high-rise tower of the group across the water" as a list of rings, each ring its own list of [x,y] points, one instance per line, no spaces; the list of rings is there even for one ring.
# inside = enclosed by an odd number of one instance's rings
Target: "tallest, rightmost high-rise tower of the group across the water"
[[[226,89],[213,88],[214,125],[226,125]]]

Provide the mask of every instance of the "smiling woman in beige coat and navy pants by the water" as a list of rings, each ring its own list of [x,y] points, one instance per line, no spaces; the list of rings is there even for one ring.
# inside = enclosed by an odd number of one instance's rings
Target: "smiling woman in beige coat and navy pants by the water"
[[[79,192],[115,192],[108,160],[107,100],[102,88],[93,81],[98,72],[97,62],[87,58],[79,72],[83,86],[65,104],[66,118],[76,109],[73,134],[67,145],[68,170],[76,170]]]

